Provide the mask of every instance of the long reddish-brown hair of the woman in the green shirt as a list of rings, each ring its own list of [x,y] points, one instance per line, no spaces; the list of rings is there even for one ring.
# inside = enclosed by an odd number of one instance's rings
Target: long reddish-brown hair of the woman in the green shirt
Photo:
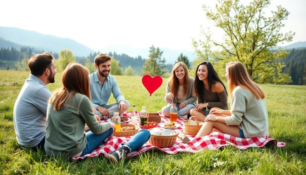
[[[54,110],[63,108],[64,102],[71,91],[74,92],[69,97],[70,101],[76,93],[81,93],[86,95],[89,100],[91,99],[88,75],[89,71],[86,67],[78,63],[68,64],[62,73],[62,87],[56,89],[49,99],[50,103],[54,103]]]

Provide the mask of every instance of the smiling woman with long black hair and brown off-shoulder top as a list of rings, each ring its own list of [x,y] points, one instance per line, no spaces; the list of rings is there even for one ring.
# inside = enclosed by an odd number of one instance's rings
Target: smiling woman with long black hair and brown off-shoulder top
[[[196,68],[194,93],[198,97],[198,105],[190,110],[190,115],[197,120],[205,121],[212,108],[227,110],[227,92],[214,67],[203,61]]]

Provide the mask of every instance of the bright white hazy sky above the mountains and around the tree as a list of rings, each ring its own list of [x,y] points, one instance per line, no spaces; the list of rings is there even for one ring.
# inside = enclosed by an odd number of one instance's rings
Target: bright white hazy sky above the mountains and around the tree
[[[132,48],[160,48],[192,51],[191,39],[212,27],[202,9],[213,7],[214,0],[3,0],[0,3],[0,26],[17,27],[43,34],[70,38],[99,50],[109,45]],[[244,0],[241,0],[244,2]],[[289,12],[282,32],[296,32],[293,41],[306,41],[306,0],[273,0]],[[218,30],[217,30],[218,31]],[[222,34],[214,32],[217,40]]]

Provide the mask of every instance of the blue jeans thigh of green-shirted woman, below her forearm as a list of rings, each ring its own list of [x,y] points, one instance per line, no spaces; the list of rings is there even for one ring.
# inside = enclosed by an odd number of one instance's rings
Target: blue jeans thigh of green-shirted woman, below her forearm
[[[94,134],[91,131],[86,132],[87,143],[80,157],[95,150],[106,138],[113,134],[113,131],[113,128],[110,128],[102,134]]]

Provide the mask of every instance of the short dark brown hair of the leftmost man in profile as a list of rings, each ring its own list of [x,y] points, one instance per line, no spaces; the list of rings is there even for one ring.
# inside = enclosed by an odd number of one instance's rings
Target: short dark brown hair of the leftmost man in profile
[[[28,61],[28,67],[31,70],[31,74],[35,76],[42,75],[43,72],[51,66],[51,62],[54,57],[47,52],[42,54],[35,54],[32,58]]]

